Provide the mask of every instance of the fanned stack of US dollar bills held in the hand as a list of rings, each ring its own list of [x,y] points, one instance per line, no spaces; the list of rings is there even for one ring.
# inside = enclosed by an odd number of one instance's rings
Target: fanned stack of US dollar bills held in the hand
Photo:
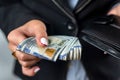
[[[35,37],[29,37],[18,45],[17,50],[51,61],[79,60],[81,57],[81,44],[77,37],[48,36],[48,43],[48,46],[40,47]]]

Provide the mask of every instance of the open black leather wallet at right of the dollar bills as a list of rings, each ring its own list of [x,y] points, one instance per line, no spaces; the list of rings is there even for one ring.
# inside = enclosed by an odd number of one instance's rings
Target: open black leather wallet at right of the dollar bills
[[[82,33],[84,41],[120,59],[120,16],[89,20]]]

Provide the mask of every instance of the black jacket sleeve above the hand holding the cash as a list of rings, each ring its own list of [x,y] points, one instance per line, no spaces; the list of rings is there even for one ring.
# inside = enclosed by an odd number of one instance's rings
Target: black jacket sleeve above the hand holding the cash
[[[32,19],[38,19],[38,16],[22,2],[0,7],[0,28],[6,36],[11,30]]]

